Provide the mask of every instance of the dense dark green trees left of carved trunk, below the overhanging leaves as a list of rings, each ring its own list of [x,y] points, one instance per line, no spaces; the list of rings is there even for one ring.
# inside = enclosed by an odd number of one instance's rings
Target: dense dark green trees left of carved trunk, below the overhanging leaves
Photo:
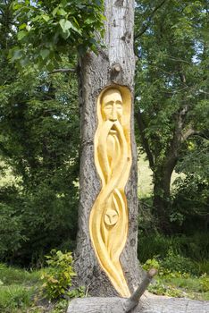
[[[29,265],[77,232],[79,108],[75,74],[8,63],[17,44],[11,1],[1,4],[0,156],[16,182],[1,189],[1,259]],[[64,66],[66,61],[60,63]],[[69,63],[68,63],[69,65]],[[17,258],[18,257],[18,258]]]

